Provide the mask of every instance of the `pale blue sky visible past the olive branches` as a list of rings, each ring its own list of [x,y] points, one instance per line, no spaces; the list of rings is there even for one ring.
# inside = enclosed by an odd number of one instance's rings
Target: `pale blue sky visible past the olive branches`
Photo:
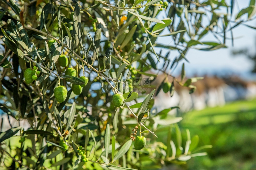
[[[244,1],[235,1],[233,18],[234,14],[237,14],[241,9],[248,6],[249,0]],[[252,20],[247,23],[251,26],[256,26],[256,20]],[[186,58],[190,63],[185,63],[185,70],[188,76],[193,76],[193,74],[223,74],[227,72],[232,72],[235,74],[245,75],[248,79],[248,73],[253,67],[253,63],[247,59],[245,56],[232,56],[232,49],[240,48],[250,48],[255,52],[255,43],[256,43],[256,30],[249,28],[247,26],[238,26],[233,29],[234,35],[234,46],[232,47],[232,42],[228,40],[226,45],[228,48],[223,48],[214,51],[200,51],[196,49],[190,49],[186,54]],[[230,37],[230,34],[228,34]],[[214,37],[208,34],[205,36],[204,40],[213,40]],[[172,39],[170,37],[165,37],[164,39],[158,40],[158,42],[166,42],[168,44]],[[252,51],[253,51],[252,50]],[[171,56],[171,59],[174,59],[177,55]],[[179,74],[181,70],[181,65],[183,62],[180,62],[177,69],[174,71],[174,74]],[[256,80],[256,79],[255,79]]]

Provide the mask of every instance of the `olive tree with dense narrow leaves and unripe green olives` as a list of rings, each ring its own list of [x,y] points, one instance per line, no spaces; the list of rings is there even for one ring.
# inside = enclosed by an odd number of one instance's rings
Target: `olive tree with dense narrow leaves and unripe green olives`
[[[198,136],[181,134],[176,123],[182,118],[168,116],[174,108],[159,111],[154,105],[161,89],[173,94],[174,82],[166,79],[149,91],[150,83],[159,73],[171,75],[187,60],[189,48],[225,47],[227,33],[255,12],[252,0],[233,21],[233,4],[0,1],[0,109],[30,126],[10,123],[1,132],[1,167],[160,169],[205,155]],[[223,10],[228,12],[219,13]],[[204,42],[207,34],[215,39]],[[158,43],[159,36],[171,43]],[[178,55],[171,56],[171,50]],[[191,93],[196,90],[191,83],[198,78],[185,80],[184,64],[181,77],[173,78]],[[166,129],[167,141],[156,142]]]

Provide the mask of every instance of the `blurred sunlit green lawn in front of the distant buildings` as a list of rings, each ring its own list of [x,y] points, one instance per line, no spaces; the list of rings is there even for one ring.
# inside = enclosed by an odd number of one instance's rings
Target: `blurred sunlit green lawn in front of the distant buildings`
[[[188,112],[179,125],[198,134],[199,145],[213,145],[187,169],[256,170],[256,99]]]

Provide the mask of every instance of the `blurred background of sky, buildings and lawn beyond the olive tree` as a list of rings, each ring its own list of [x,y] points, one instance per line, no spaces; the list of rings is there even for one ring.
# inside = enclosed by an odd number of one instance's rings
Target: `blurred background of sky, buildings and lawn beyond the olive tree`
[[[235,12],[249,4],[249,0],[235,1]],[[185,134],[188,128],[198,135],[199,145],[213,145],[207,156],[199,156],[187,165],[173,169],[256,169],[256,20],[233,29],[234,41],[227,39],[227,48],[202,51],[190,49],[186,55],[186,76],[204,77],[194,83],[197,90],[175,87],[172,97],[160,92],[155,101],[161,102],[159,110],[178,105],[173,114],[182,116],[179,123]],[[213,35],[204,38],[213,39]],[[171,39],[159,39],[171,44]],[[160,49],[159,49],[160,50]],[[166,52],[167,51],[163,51]],[[175,53],[171,52],[171,58]],[[182,62],[173,74],[180,75]],[[159,76],[159,82],[164,76]],[[168,77],[171,82],[171,77]],[[156,104],[157,105],[157,104]],[[165,141],[166,134],[159,136]],[[161,141],[161,140],[160,140]]]

